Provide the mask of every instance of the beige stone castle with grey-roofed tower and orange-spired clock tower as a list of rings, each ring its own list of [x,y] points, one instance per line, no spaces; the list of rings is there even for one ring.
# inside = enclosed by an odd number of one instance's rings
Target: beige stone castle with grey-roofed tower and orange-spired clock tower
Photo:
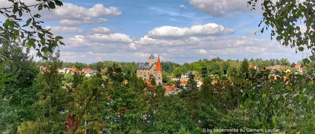
[[[149,80],[150,74],[155,77],[156,84],[162,84],[162,66],[160,62],[160,56],[157,58],[157,62],[155,62],[154,56],[151,54],[149,57],[149,65],[139,64],[137,67],[137,77],[142,79]]]

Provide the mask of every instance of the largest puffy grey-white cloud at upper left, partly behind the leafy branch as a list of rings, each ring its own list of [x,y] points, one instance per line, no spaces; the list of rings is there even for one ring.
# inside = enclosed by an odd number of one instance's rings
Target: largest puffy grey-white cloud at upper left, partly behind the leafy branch
[[[34,5],[40,3],[35,0],[23,0],[26,5]],[[10,7],[12,2],[8,0],[0,0],[1,6]],[[85,8],[77,6],[72,3],[63,3],[63,6],[56,6],[55,9],[49,11],[43,9],[37,10],[37,7],[31,7],[32,14],[40,14],[43,19],[48,20],[61,20],[60,25],[63,26],[78,26],[84,24],[106,23],[112,22],[111,20],[103,19],[106,16],[118,16],[122,12],[117,7],[104,7],[103,4],[95,4],[92,8]]]

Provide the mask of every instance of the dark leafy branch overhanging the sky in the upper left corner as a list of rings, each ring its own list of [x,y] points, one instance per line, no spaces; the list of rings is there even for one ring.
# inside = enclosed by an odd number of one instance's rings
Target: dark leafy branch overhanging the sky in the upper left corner
[[[23,40],[22,45],[25,46],[27,42],[28,47],[33,47],[37,50],[37,56],[42,57],[42,53],[50,52],[54,47],[60,45],[64,45],[60,40],[63,39],[61,36],[53,37],[53,34],[49,32],[50,29],[43,29],[41,23],[43,21],[38,21],[37,19],[41,17],[39,14],[32,14],[31,8],[37,7],[38,10],[44,9],[55,9],[57,6],[63,6],[63,3],[59,0],[38,0],[37,4],[27,5],[20,0],[10,0],[12,2],[12,6],[0,8],[0,13],[7,18],[3,23],[3,27],[0,27],[0,36],[9,39],[13,38],[14,40],[17,38],[21,38]],[[9,15],[9,14],[14,15]],[[18,15],[17,15],[18,13]],[[31,18],[26,20],[26,24],[20,26],[18,22],[22,21],[22,15],[30,14]],[[16,15],[15,15],[16,14]],[[31,26],[30,26],[31,24]],[[31,30],[29,30],[31,29]],[[38,39],[36,38],[38,37]],[[36,44],[37,43],[37,44]],[[37,47],[38,46],[38,47]],[[47,57],[43,56],[43,59],[47,59]]]

